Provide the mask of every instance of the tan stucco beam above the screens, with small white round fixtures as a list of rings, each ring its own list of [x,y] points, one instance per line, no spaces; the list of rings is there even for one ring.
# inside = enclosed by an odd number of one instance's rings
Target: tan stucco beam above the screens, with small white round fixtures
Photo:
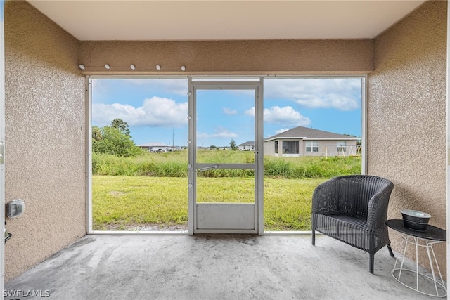
[[[79,62],[84,74],[366,74],[373,41],[82,41]]]

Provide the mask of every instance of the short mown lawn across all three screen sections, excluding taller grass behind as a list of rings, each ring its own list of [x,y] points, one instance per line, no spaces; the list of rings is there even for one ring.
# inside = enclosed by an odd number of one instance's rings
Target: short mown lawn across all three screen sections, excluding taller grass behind
[[[253,202],[251,178],[198,179],[198,201]],[[325,180],[264,179],[264,229],[310,230],[311,195]],[[187,225],[187,178],[93,176],[92,187],[94,230]]]

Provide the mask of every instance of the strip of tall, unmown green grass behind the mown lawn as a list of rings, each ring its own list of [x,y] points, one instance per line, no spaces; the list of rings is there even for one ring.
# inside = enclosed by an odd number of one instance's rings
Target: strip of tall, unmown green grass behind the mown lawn
[[[251,163],[253,152],[200,150],[198,162]],[[166,153],[144,153],[139,157],[96,155],[92,157],[95,175],[187,177],[187,150]],[[332,178],[361,173],[361,157],[271,157],[264,156],[264,176],[272,178]],[[214,169],[198,173],[202,177],[252,177],[248,169]]]

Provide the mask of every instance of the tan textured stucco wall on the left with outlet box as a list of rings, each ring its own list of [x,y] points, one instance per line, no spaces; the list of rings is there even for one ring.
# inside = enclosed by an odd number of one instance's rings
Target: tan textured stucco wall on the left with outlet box
[[[6,1],[6,280],[86,233],[86,79],[79,41],[25,1]],[[43,287],[44,288],[44,287]]]

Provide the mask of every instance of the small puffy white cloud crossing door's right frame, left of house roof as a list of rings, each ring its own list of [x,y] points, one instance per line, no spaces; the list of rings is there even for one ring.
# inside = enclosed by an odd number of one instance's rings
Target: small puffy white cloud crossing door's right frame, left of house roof
[[[255,116],[255,107],[245,110],[245,115]],[[308,117],[304,117],[293,107],[272,106],[264,108],[264,122],[271,124],[283,124],[285,126],[307,126],[311,124]]]

